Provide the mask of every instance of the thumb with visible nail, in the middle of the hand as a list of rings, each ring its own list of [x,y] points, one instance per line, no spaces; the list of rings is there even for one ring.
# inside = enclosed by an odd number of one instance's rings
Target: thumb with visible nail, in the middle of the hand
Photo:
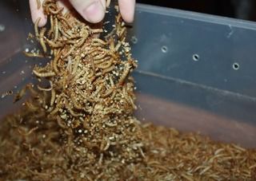
[[[88,22],[101,22],[105,16],[106,0],[70,0],[70,3]]]

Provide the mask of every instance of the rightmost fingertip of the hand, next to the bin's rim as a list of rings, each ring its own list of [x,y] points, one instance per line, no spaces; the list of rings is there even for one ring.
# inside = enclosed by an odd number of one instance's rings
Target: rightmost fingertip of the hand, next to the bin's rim
[[[118,0],[120,13],[125,22],[134,21],[135,0]]]

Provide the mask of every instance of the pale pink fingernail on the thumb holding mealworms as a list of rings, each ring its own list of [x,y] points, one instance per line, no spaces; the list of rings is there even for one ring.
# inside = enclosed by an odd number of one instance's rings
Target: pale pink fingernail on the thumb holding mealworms
[[[86,18],[88,22],[101,22],[105,15],[105,9],[100,1],[95,1],[90,6],[82,10],[82,16]]]

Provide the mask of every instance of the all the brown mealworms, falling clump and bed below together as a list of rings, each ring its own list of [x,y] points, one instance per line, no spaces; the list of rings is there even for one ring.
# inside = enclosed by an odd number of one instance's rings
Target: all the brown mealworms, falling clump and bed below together
[[[56,2],[38,4],[50,26],[38,28],[38,19],[30,38],[41,49],[26,52],[50,62],[34,67],[38,84],[14,101],[29,99],[1,121],[1,179],[256,179],[255,149],[140,124],[130,77],[137,63],[120,14],[106,33]]]

